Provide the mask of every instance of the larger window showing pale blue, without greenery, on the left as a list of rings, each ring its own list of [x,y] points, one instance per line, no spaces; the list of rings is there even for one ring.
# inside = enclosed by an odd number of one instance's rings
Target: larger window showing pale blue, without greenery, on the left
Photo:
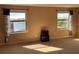
[[[11,32],[26,31],[25,10],[10,10],[10,29]]]

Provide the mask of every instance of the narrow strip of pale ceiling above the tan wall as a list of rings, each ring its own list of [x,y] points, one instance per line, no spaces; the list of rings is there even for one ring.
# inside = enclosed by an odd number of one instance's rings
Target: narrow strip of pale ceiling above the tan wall
[[[79,7],[79,4],[22,4],[22,6],[40,6],[40,7]]]

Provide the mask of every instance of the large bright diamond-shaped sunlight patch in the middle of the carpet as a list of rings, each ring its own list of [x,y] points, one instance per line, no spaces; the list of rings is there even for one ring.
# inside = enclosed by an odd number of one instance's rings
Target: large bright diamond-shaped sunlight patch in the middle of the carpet
[[[40,51],[40,52],[52,52],[52,51],[63,50],[63,48],[52,47],[52,46],[43,45],[43,44],[27,45],[27,46],[23,46],[23,47],[28,48],[28,49],[33,49],[36,51]]]

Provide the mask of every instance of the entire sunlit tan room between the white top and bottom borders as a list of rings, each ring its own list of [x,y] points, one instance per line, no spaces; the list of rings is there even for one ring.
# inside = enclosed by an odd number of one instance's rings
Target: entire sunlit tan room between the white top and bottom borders
[[[79,53],[78,4],[1,4],[0,54]]]

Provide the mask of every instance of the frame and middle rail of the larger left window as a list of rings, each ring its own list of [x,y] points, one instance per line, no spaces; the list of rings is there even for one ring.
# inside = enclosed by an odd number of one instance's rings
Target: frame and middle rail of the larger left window
[[[27,33],[27,19],[28,19],[28,13],[27,10],[21,10],[21,9],[12,9],[10,10],[10,12],[14,12],[17,11],[17,13],[19,13],[20,11],[23,11],[25,13],[25,19],[24,20],[10,20],[10,25],[11,22],[24,22],[25,23],[25,30],[24,31],[13,31],[13,29],[11,28],[11,33],[10,34],[18,34],[18,33]]]

